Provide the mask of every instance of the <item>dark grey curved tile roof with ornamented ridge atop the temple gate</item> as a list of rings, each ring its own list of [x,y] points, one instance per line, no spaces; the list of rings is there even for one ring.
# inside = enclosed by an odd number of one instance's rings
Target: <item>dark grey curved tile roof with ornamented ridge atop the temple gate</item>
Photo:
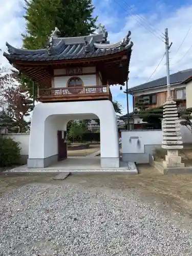
[[[4,56],[8,59],[28,60],[28,61],[45,61],[61,59],[80,59],[99,57],[109,54],[130,50],[133,42],[130,41],[131,32],[126,37],[115,43],[110,44],[106,37],[107,32],[80,37],[59,38],[55,34],[50,37],[48,49],[26,50],[16,49],[6,42],[8,53]]]

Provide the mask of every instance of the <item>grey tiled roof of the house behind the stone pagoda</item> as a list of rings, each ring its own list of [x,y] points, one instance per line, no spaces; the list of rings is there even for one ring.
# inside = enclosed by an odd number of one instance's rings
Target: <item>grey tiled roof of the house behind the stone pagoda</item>
[[[191,75],[192,75],[192,69],[187,69],[187,70],[183,70],[183,71],[174,73],[174,74],[170,75],[170,84],[182,82]],[[128,90],[128,93],[133,93],[133,92],[137,92],[137,91],[141,91],[141,90],[145,90],[145,89],[157,88],[159,86],[166,86],[166,84],[167,84],[166,76],[164,76],[157,80],[143,83],[143,84],[140,84],[139,86],[132,87]]]

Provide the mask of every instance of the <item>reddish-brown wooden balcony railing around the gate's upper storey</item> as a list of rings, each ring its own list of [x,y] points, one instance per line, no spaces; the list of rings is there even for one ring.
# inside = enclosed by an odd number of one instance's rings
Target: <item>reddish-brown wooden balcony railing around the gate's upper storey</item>
[[[84,86],[84,87],[64,87],[48,88],[38,90],[39,101],[51,100],[74,100],[74,99],[102,99],[112,101],[112,94],[109,86]]]

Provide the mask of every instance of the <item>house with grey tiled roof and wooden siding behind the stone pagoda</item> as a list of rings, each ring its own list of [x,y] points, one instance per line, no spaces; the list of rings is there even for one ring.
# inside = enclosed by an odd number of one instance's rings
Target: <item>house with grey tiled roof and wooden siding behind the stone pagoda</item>
[[[170,75],[170,86],[173,99],[178,101],[180,109],[192,106],[192,69],[179,71]],[[126,92],[125,92],[126,93]],[[137,115],[139,101],[144,101],[148,109],[158,108],[166,101],[166,76],[130,88],[127,93],[133,96],[133,112],[129,114],[130,130],[141,129],[142,119]],[[127,123],[127,115],[121,117]]]

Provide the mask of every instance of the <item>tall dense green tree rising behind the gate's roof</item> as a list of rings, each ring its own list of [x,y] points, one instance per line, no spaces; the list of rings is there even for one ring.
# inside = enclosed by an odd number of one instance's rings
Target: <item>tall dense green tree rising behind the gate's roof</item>
[[[23,34],[23,47],[26,49],[45,48],[51,31],[57,27],[61,37],[89,35],[94,32],[97,20],[92,17],[94,6],[91,0],[25,0],[26,34]],[[20,82],[25,84],[32,95],[32,81],[22,75]],[[37,90],[35,90],[36,98]]]

